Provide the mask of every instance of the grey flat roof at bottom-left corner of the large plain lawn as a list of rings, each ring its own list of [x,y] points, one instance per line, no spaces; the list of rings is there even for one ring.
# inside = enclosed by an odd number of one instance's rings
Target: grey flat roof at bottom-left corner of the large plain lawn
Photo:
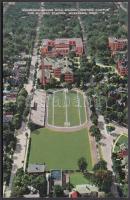
[[[43,164],[29,164],[27,172],[28,173],[42,173],[42,172],[45,172],[45,165],[43,165]]]

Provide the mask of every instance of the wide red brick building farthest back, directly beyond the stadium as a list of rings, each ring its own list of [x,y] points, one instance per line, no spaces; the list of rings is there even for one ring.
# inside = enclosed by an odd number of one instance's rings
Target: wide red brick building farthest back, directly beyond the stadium
[[[83,42],[81,38],[44,39],[42,42],[41,54],[43,56],[66,56],[70,52],[75,52],[77,56],[83,54]]]

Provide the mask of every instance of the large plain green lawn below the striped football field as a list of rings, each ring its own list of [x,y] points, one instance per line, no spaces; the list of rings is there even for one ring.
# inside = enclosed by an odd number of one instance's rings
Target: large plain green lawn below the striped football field
[[[29,163],[46,163],[48,169],[78,169],[77,161],[85,157],[92,169],[87,129],[55,132],[46,128],[31,133]]]

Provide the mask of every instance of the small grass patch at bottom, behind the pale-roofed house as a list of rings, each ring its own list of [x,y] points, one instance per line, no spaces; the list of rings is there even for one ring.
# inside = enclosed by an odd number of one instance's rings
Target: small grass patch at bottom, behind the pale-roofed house
[[[80,172],[75,172],[70,175],[70,183],[73,186],[80,185],[80,184],[89,184],[90,181],[83,176]]]

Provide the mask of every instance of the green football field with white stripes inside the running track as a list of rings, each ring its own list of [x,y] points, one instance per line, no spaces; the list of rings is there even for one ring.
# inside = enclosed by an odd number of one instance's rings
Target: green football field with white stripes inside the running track
[[[57,91],[49,95],[48,123],[54,126],[77,126],[86,121],[83,95]]]

